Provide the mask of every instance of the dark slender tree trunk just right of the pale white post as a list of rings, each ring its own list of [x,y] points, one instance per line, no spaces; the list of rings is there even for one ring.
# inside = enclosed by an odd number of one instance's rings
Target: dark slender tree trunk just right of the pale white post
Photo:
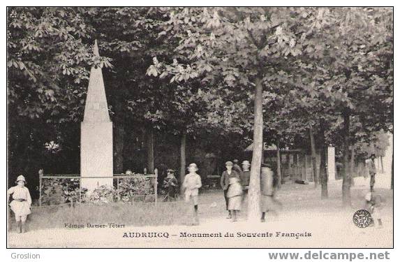
[[[343,206],[351,205],[351,193],[350,193],[350,170],[348,163],[348,148],[350,145],[350,110],[348,108],[343,109],[342,116],[344,119],[343,125],[343,184],[342,184],[342,203]]]

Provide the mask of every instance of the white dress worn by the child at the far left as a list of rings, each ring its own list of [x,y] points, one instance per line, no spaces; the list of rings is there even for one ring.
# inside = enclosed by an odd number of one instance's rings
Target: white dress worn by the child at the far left
[[[31,194],[27,187],[15,186],[8,189],[7,194],[13,194],[13,201],[10,203],[10,208],[15,213],[15,216],[26,216],[31,214]]]

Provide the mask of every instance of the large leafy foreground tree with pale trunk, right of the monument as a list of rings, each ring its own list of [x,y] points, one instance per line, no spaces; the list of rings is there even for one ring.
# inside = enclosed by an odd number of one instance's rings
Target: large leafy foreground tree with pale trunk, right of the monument
[[[285,78],[291,57],[301,54],[312,20],[312,9],[295,8],[176,8],[170,28],[179,31],[179,50],[191,60],[171,65],[172,81],[200,78],[204,85],[232,90],[253,99],[253,158],[249,189],[249,219],[260,214],[263,90],[269,77]],[[167,32],[168,34],[168,32]],[[303,37],[300,37],[302,36]],[[180,68],[177,70],[176,68]],[[229,92],[229,91],[228,91]]]

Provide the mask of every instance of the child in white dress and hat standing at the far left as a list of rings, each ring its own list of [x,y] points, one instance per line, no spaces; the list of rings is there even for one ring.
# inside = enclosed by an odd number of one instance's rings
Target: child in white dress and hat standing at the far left
[[[25,177],[19,175],[17,177],[17,184],[15,187],[11,187],[7,191],[7,202],[10,195],[13,195],[13,201],[10,203],[10,208],[15,214],[15,221],[17,221],[17,232],[25,233],[25,221],[27,221],[28,214],[31,214],[31,194],[29,194],[29,189],[25,187]]]

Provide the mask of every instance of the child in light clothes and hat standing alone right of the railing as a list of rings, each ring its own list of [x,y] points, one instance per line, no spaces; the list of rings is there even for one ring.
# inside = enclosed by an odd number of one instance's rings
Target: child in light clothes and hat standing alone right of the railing
[[[199,188],[202,187],[201,177],[196,173],[198,166],[195,163],[191,163],[188,166],[189,173],[185,175],[184,183],[182,187],[184,188],[185,202],[190,205],[194,205],[195,217],[193,225],[198,225],[198,192]]]

